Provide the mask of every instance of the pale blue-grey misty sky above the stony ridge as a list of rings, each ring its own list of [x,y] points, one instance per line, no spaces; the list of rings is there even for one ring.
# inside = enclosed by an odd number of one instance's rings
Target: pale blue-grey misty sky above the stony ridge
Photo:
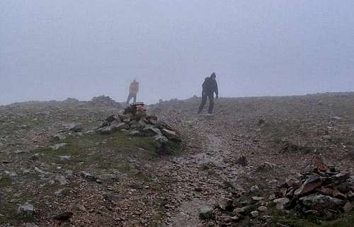
[[[213,71],[221,96],[354,91],[354,1],[0,1],[0,104],[189,98]]]

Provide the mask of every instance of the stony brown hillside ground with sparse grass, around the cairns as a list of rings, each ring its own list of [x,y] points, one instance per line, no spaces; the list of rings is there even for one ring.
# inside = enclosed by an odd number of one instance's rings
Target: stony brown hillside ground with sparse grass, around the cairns
[[[183,139],[162,155],[150,137],[86,133],[122,111],[107,97],[1,106],[0,226],[353,226],[350,209],[286,223],[269,197],[314,157],[353,175],[354,93],[221,98],[214,116],[199,101],[148,107]]]

